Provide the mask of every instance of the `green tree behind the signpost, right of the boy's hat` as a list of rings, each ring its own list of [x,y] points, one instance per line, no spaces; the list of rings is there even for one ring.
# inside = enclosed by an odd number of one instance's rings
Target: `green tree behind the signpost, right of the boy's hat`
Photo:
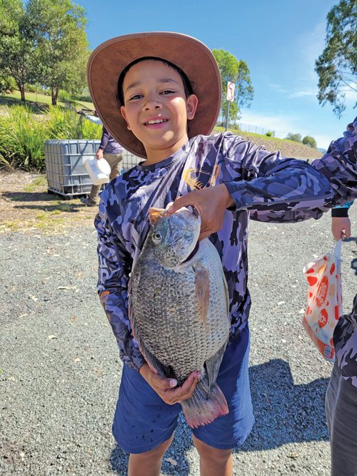
[[[236,59],[236,56],[223,49],[213,49],[212,53],[216,58],[222,77],[222,115],[227,110],[227,83],[231,81],[236,84],[235,101],[229,108],[229,118],[239,118],[239,112],[243,106],[249,106],[253,99],[253,86],[251,86],[250,71],[246,61]]]

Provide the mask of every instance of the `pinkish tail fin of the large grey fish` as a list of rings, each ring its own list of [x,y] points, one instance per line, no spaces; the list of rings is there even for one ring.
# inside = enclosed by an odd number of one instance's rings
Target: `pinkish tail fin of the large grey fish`
[[[216,383],[208,395],[208,388],[200,380],[191,398],[181,402],[186,422],[191,428],[207,425],[228,414],[226,397]]]

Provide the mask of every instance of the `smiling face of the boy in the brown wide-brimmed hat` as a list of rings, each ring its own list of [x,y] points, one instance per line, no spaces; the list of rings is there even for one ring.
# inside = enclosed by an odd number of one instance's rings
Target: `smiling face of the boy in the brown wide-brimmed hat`
[[[129,69],[124,83],[121,114],[144,144],[148,160],[165,158],[186,143],[187,120],[193,119],[198,99],[186,98],[181,76],[161,61],[144,60]]]

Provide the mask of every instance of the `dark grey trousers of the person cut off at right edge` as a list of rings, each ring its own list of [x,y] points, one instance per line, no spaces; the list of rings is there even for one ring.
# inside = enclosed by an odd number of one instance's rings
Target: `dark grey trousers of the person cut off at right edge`
[[[357,388],[335,363],[325,400],[331,445],[331,476],[357,476]]]

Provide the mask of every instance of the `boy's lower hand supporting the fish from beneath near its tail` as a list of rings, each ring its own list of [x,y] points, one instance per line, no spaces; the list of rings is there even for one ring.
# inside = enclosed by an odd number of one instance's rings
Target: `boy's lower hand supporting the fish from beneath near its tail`
[[[147,363],[141,366],[139,373],[168,405],[174,405],[182,400],[191,398],[200,378],[199,372],[192,372],[188,375],[187,380],[183,382],[183,385],[177,387],[177,380],[174,378],[160,377],[160,375],[150,370]]]

